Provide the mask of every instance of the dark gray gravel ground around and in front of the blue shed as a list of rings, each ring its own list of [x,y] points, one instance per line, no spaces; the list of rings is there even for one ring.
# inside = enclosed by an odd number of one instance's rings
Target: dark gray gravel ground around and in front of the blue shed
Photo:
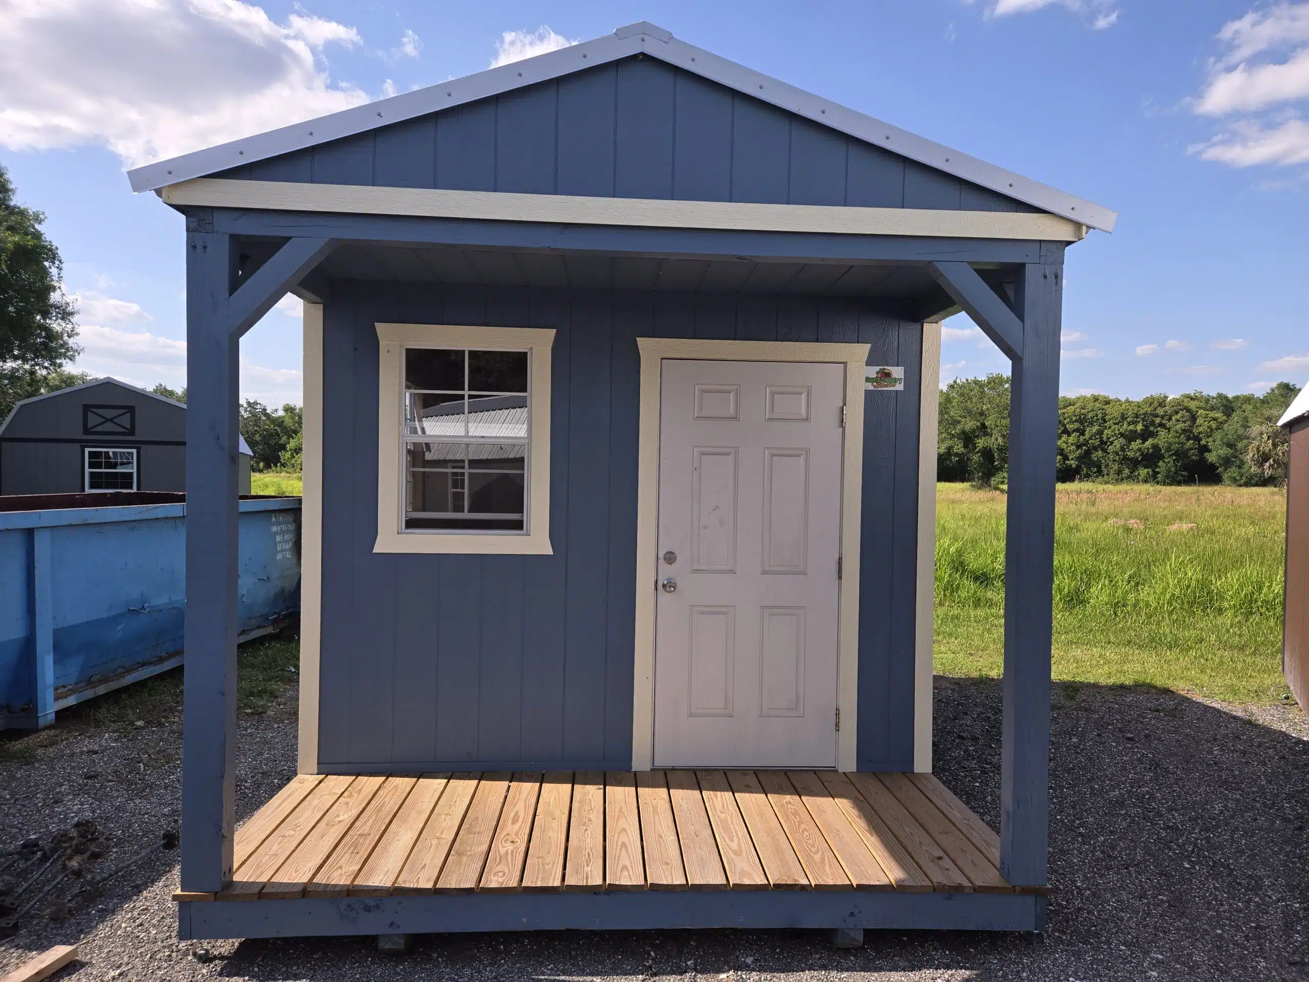
[[[105,697],[113,698],[113,697]],[[1000,690],[939,678],[936,770],[999,822]],[[178,822],[175,708],[119,731],[75,714],[0,744],[0,846],[94,818],[103,864]],[[241,720],[238,810],[295,766],[295,693]],[[1045,941],[868,932],[835,951],[810,931],[421,937],[393,960],[372,939],[177,941],[175,854],[149,859],[69,919],[29,918],[0,973],[81,940],[59,979],[1309,979],[1309,721],[1141,689],[1055,686],[1051,882]]]

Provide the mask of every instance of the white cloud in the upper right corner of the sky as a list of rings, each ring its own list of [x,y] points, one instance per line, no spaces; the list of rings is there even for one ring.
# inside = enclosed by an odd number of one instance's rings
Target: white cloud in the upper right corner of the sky
[[[1217,39],[1225,51],[1210,60],[1191,107],[1232,122],[1189,151],[1234,168],[1309,162],[1309,123],[1300,111],[1309,100],[1309,3],[1251,10],[1223,25]]]

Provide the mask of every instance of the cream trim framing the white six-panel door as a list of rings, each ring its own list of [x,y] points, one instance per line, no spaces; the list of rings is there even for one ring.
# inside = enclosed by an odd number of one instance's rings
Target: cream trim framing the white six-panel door
[[[654,757],[654,581],[658,575],[660,369],[664,359],[721,361],[825,361],[846,365],[846,441],[842,454],[842,579],[838,625],[840,732],[836,767],[856,769],[859,733],[859,532],[864,465],[864,365],[868,344],[772,340],[637,338],[641,357],[636,478],[636,670],[632,685],[632,770]]]

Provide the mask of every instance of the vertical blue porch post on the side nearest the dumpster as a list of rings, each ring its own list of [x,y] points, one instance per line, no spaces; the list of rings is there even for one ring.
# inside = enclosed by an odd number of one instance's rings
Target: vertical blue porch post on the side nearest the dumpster
[[[187,232],[182,889],[200,893],[232,879],[236,821],[240,340],[226,316],[233,246],[224,233]]]

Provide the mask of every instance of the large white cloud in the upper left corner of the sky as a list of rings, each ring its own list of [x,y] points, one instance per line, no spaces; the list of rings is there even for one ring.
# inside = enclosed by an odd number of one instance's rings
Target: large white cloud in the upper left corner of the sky
[[[102,145],[127,166],[367,102],[327,46],[360,35],[242,0],[0,4],[0,145]],[[52,69],[52,67],[58,67]]]

